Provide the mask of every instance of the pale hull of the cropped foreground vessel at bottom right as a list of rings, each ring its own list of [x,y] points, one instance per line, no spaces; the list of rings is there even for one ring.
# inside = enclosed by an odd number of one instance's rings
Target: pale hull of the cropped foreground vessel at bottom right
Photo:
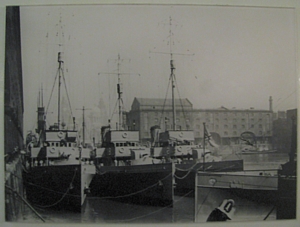
[[[232,199],[232,221],[276,219],[278,199],[276,171],[198,172],[195,221],[206,222],[222,201]]]

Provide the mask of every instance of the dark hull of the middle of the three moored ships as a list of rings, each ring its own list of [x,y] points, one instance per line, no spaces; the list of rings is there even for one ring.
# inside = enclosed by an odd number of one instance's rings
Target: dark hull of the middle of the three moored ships
[[[173,169],[172,163],[101,166],[91,183],[91,194],[135,204],[171,206]]]

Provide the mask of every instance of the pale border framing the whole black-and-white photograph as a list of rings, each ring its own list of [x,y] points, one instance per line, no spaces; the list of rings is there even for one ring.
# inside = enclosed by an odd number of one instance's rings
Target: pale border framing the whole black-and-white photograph
[[[1,132],[0,132],[0,146],[2,150],[2,158],[0,159],[0,166],[2,166],[1,177],[4,179],[4,66],[5,66],[5,13],[6,13],[6,6],[25,6],[25,5],[87,5],[87,4],[166,4],[166,5],[172,5],[172,4],[184,4],[184,5],[209,5],[209,6],[251,6],[251,7],[279,7],[279,8],[293,8],[295,10],[295,26],[296,26],[296,40],[297,40],[297,54],[296,54],[296,62],[297,62],[297,83],[298,83],[298,90],[297,90],[297,109],[299,110],[299,84],[300,84],[300,64],[299,64],[299,54],[300,54],[300,43],[299,43],[299,37],[300,37],[300,1],[297,0],[86,0],[86,1],[80,1],[80,0],[2,0],[0,1],[0,100],[1,100],[1,117],[0,117],[0,124],[1,124]],[[299,120],[299,114],[298,114],[298,120]],[[299,123],[298,123],[298,131],[299,131]],[[300,141],[300,135],[298,133],[298,141]],[[299,149],[299,146],[298,146]],[[298,159],[299,160],[299,159]],[[299,173],[299,165],[298,170]],[[37,224],[24,224],[24,223],[10,223],[5,222],[5,193],[4,193],[4,180],[0,181],[1,185],[1,193],[0,193],[0,201],[2,201],[0,205],[1,216],[0,216],[0,226],[38,226],[40,223]],[[299,180],[297,183],[297,188],[299,188]],[[297,193],[299,195],[299,193]],[[299,196],[297,196],[297,219],[296,220],[287,220],[287,221],[268,221],[268,222],[243,222],[243,223],[216,223],[216,224],[206,224],[206,223],[194,223],[194,224],[186,224],[186,223],[180,223],[184,224],[184,226],[196,226],[196,225],[205,225],[205,226],[299,226]],[[45,226],[51,226],[53,224],[43,224]],[[110,225],[110,226],[117,226],[115,224],[97,224],[97,225]],[[124,226],[129,226],[130,224],[126,224]],[[151,224],[143,224],[145,226],[152,226]],[[173,226],[177,225],[177,223],[174,224],[163,224],[163,226]],[[59,224],[59,226],[62,226]],[[74,224],[64,224],[63,226],[74,226]],[[79,224],[76,226],[86,226],[86,224]],[[157,226],[157,224],[155,224]]]

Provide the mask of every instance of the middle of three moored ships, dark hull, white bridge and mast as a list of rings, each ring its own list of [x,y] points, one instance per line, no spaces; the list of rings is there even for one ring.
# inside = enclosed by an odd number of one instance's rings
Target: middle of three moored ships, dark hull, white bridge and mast
[[[118,66],[119,61],[118,55]],[[174,165],[151,157],[150,148],[140,144],[139,132],[125,130],[120,74],[117,73],[119,127],[113,130],[109,122],[101,128],[102,145],[96,152],[97,174],[91,183],[91,194],[147,205],[172,205]]]

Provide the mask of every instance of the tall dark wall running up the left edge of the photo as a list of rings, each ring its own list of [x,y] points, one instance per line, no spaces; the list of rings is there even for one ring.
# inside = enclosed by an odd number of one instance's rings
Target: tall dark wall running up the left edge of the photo
[[[4,151],[5,151],[5,220],[22,216],[24,193],[22,180],[23,85],[21,63],[20,10],[6,8]]]

